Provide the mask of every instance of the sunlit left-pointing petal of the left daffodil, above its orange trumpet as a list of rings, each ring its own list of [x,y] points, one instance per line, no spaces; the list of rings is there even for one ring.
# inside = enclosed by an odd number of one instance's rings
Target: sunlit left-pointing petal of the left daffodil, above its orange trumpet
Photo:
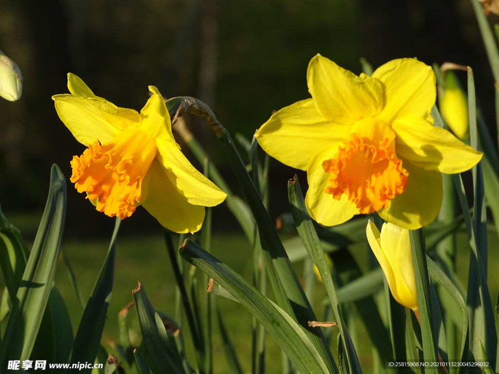
[[[102,111],[83,97],[55,95],[52,96],[52,99],[61,121],[76,140],[85,146],[97,140],[101,144],[107,143],[122,130],[106,121]]]

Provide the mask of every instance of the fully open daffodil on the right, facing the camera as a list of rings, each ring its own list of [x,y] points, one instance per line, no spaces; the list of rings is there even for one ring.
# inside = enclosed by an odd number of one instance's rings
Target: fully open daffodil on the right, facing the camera
[[[407,229],[426,226],[442,204],[441,173],[482,158],[432,126],[435,75],[420,61],[392,60],[369,77],[316,55],[307,84],[312,98],[277,111],[255,137],[270,156],[307,172],[306,206],[326,226],[374,211]]]

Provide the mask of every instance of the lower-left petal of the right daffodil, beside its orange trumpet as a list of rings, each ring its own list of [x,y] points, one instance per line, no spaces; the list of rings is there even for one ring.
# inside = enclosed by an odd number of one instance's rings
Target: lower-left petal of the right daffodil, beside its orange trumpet
[[[326,193],[329,186],[330,174],[322,169],[322,162],[329,160],[338,152],[337,147],[333,147],[319,152],[312,157],[307,166],[308,191],[305,196],[305,205],[310,216],[326,226],[334,226],[346,222],[355,214],[359,214],[359,209],[348,200],[346,194],[341,195],[339,200]]]

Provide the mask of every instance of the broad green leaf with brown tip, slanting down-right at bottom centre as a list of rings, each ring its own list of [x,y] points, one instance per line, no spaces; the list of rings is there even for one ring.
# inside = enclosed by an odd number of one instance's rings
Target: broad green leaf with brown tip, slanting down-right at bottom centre
[[[229,266],[204,251],[199,245],[187,239],[180,247],[180,254],[189,263],[207,273],[236,298],[265,327],[277,344],[284,350],[300,373],[331,373],[324,371],[308,345],[289,325],[268,299],[260,294],[241,275]],[[322,361],[323,365],[324,362]]]

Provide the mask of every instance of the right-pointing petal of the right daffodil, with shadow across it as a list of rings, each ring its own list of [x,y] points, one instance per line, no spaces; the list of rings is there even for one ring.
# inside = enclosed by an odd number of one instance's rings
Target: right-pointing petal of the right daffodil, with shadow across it
[[[449,131],[417,117],[405,117],[392,125],[395,151],[425,170],[455,174],[470,170],[482,153],[458,140]],[[410,178],[410,177],[409,177]]]

